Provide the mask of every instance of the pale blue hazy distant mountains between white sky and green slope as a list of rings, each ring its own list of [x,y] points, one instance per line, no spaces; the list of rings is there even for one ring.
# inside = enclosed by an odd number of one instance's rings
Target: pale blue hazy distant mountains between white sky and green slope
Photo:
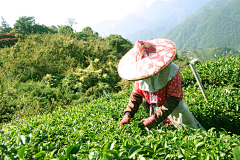
[[[210,1],[157,0],[150,8],[134,12],[120,20],[98,23],[92,29],[103,36],[120,34],[133,43],[136,40],[158,38]]]

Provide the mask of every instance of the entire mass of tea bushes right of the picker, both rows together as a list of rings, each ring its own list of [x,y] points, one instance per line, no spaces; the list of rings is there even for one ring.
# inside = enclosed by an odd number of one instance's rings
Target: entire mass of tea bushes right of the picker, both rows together
[[[240,58],[218,57],[195,65],[206,92],[205,101],[190,69],[183,70],[184,99],[206,129],[211,127],[240,134]]]

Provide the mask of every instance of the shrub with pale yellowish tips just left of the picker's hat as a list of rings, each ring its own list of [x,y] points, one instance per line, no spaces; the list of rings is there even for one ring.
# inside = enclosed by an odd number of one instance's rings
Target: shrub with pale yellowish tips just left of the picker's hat
[[[117,74],[117,65],[115,63],[108,62],[101,65],[99,59],[91,61],[87,68],[77,68],[72,73],[76,81],[75,87],[83,92],[88,97],[88,100],[101,97],[103,90],[118,92],[121,88],[116,84],[121,78]],[[82,97],[77,102],[81,101],[83,101]]]

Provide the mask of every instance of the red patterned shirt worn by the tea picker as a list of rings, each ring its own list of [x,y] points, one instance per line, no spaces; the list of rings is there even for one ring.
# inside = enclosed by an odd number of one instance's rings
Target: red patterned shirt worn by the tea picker
[[[180,71],[178,70],[177,74],[168,81],[167,85],[162,89],[159,89],[156,93],[140,90],[139,81],[135,81],[132,92],[144,97],[149,104],[156,103],[157,106],[162,106],[165,103],[166,98],[171,96],[178,97],[179,101],[181,101],[183,98],[183,90]]]

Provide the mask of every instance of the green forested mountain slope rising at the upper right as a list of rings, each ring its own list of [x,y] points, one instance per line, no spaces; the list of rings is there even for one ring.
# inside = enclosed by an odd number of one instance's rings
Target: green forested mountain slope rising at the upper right
[[[214,0],[161,37],[178,49],[233,47],[240,49],[240,1]]]

